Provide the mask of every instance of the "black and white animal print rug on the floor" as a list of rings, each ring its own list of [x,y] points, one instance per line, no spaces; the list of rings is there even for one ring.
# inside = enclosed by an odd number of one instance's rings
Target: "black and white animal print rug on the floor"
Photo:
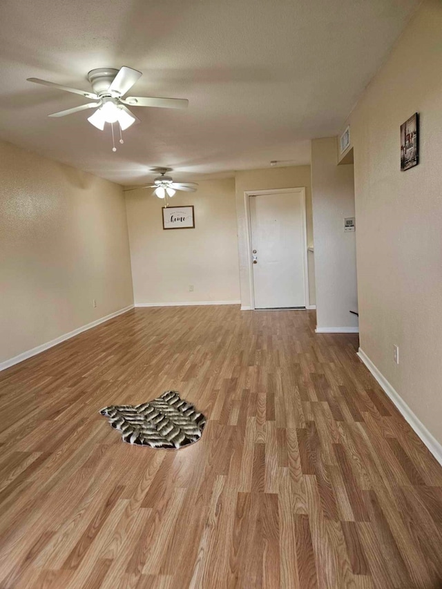
[[[153,448],[182,448],[197,442],[206,418],[176,391],[140,405],[110,405],[100,413],[129,444]]]

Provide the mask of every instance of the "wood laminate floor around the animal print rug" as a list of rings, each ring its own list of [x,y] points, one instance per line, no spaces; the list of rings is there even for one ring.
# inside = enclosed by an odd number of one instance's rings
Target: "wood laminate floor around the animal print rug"
[[[442,467],[314,324],[135,309],[3,371],[0,588],[442,587]],[[167,389],[208,419],[183,450],[98,413]]]

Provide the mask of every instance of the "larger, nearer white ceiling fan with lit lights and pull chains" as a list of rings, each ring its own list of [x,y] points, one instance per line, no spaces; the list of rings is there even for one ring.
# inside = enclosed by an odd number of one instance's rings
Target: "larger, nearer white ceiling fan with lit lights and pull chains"
[[[119,70],[113,68],[98,68],[90,70],[88,73],[88,80],[92,86],[93,92],[86,90],[78,90],[77,88],[70,88],[69,86],[62,86],[55,84],[52,81],[46,81],[39,78],[28,78],[35,84],[42,84],[43,86],[50,86],[58,90],[64,90],[73,94],[79,94],[85,98],[93,99],[97,102],[88,102],[68,108],[67,110],[60,110],[58,113],[52,113],[49,117],[66,117],[78,113],[79,110],[88,110],[89,108],[97,108],[95,113],[88,117],[88,121],[100,131],[104,130],[104,125],[110,123],[119,124],[120,139],[123,143],[121,131],[130,127],[135,121],[140,122],[140,119],[127,108],[128,106],[155,106],[157,108],[187,108],[189,100],[182,98],[155,98],[147,96],[128,96],[124,97],[126,93],[132,88],[135,82],[140,79],[142,73],[123,66]],[[115,140],[113,141],[113,151],[117,151],[115,147]]]

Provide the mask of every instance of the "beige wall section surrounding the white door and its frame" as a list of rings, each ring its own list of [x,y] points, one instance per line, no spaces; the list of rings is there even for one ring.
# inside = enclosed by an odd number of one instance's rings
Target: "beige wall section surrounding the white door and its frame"
[[[313,244],[311,214],[310,166],[287,166],[285,168],[265,168],[236,172],[236,214],[238,218],[238,253],[240,259],[241,305],[251,305],[250,266],[247,242],[247,211],[244,192],[253,190],[272,190],[298,188],[305,186],[307,209],[307,244]],[[314,255],[308,254],[310,304],[315,304]]]

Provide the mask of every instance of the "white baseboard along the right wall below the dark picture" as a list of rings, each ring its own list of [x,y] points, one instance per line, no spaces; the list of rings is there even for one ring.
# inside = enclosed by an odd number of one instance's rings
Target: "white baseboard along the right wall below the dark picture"
[[[365,354],[361,348],[359,348],[358,356],[372,373],[374,378],[376,378],[379,385],[381,385],[387,397],[392,400],[396,409],[398,409],[403,418],[405,418],[405,421],[411,425],[412,429],[414,429],[414,432],[416,432],[428,450],[430,450],[434,458],[436,458],[436,461],[442,465],[442,444],[440,444],[436,438],[434,438],[433,434],[427,430],[425,425],[423,425],[419,418],[412,412],[412,409],[410,409],[407,403],[405,403],[405,400],[403,400],[403,398],[398,394],[398,392],[396,392],[392,385],[390,385],[385,376],[381,374],[381,372],[372,363],[372,360],[369,359],[367,354]]]

